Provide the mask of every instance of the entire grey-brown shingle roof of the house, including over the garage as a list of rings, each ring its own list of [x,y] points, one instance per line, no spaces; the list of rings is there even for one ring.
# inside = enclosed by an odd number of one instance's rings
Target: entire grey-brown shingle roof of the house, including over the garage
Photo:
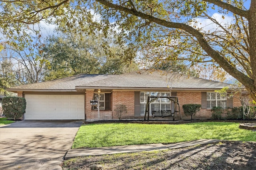
[[[62,79],[41,83],[12,87],[10,91],[18,90],[70,90],[76,89],[142,89],[145,88],[177,88],[177,89],[221,89],[230,84],[206,80],[202,78],[182,76],[165,71],[134,71],[120,75],[80,74]]]

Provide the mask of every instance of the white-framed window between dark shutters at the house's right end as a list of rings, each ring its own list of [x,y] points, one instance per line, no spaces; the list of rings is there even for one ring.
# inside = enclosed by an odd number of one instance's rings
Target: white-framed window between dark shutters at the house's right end
[[[206,94],[207,108],[214,106],[226,108],[227,107],[227,96],[221,95],[216,92],[207,92]]]

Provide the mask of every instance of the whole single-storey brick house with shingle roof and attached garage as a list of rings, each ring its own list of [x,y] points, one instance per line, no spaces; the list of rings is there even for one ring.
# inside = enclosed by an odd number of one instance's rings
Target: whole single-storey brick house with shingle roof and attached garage
[[[230,84],[162,70],[139,70],[120,75],[79,74],[8,90],[26,98],[24,120],[118,120],[114,114],[116,104],[127,107],[128,112],[122,119],[143,119],[148,96],[177,96],[183,119],[190,119],[190,116],[184,115],[182,105],[201,104],[194,119],[210,119],[213,106],[240,106],[236,98],[214,92],[226,86]],[[97,98],[99,114],[98,108],[90,104]],[[152,115],[152,111],[170,110],[171,107],[169,100],[159,99],[150,104],[149,112]],[[180,115],[176,113],[175,119],[180,119]]]

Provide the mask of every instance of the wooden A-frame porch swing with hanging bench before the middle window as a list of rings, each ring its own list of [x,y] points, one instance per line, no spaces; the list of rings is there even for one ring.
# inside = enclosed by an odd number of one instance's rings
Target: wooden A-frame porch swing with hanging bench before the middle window
[[[151,100],[151,98],[153,98]],[[179,113],[180,114],[180,105],[179,105],[179,100],[177,96],[148,96],[147,99],[147,104],[146,104],[146,110],[145,110],[145,116],[144,116],[144,121],[146,121],[146,117],[149,121],[149,105],[154,102],[155,100],[157,100],[158,98],[167,98],[171,101],[172,104],[172,108],[171,110],[153,110],[152,111],[152,117],[173,117],[173,121],[175,120],[175,113]],[[180,114],[180,118],[182,120],[181,114]]]

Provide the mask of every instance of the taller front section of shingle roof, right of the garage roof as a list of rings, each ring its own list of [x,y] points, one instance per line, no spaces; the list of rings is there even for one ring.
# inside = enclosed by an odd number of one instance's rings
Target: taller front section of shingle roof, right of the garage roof
[[[82,84],[80,87],[126,87],[126,88],[223,88],[230,84],[196,77],[182,76],[165,71],[139,71],[120,74],[98,81]]]

